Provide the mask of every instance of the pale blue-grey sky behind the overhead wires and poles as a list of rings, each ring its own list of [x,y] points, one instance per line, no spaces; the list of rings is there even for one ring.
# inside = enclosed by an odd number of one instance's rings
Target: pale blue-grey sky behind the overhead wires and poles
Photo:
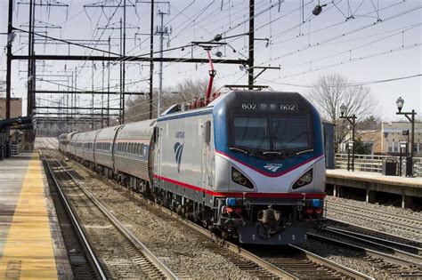
[[[37,32],[61,39],[86,40],[91,47],[119,52],[119,24],[124,0],[36,0],[37,3],[61,3],[67,6],[36,8]],[[138,0],[139,1],[139,0]],[[145,2],[145,1],[144,1]],[[148,2],[148,1],[146,1]],[[243,0],[170,0],[155,5],[155,26],[159,12],[168,28],[164,41],[165,57],[207,58],[201,48],[186,47],[192,41],[208,41],[216,34],[231,37],[226,46],[212,52],[222,52],[222,59],[245,60],[248,57],[248,3]],[[320,15],[312,15],[313,7],[327,4]],[[0,0],[0,33],[7,31],[7,0]],[[99,7],[109,4],[114,7]],[[150,52],[150,4],[126,0],[126,54],[148,56]],[[93,7],[95,6],[95,7]],[[405,120],[395,116],[395,100],[401,96],[403,110],[415,109],[422,116],[422,1],[420,0],[256,0],[255,62],[256,66],[273,66],[256,79],[276,91],[306,93],[318,78],[340,74],[352,84],[368,84],[377,100],[374,112],[385,121]],[[28,0],[15,0],[13,26],[28,29]],[[41,28],[50,26],[55,28]],[[60,27],[60,28],[57,28]],[[95,41],[100,39],[102,41]],[[43,41],[44,40],[44,41]],[[14,54],[28,54],[26,35],[16,33]],[[154,36],[154,49],[159,50],[159,36]],[[268,44],[267,44],[268,42]],[[38,38],[37,54],[102,55],[67,44],[45,44]],[[0,35],[0,81],[5,79],[6,36]],[[157,54],[158,55],[158,54]],[[215,55],[213,55],[216,58]],[[171,88],[186,79],[204,79],[208,65],[194,63],[164,63],[163,84]],[[110,86],[118,87],[119,65],[110,65]],[[158,88],[158,63],[154,67],[154,88]],[[26,61],[12,63],[12,96],[26,103]],[[248,75],[239,65],[215,64],[217,87],[224,84],[247,84]],[[147,92],[150,75],[148,62],[126,63],[126,92]],[[60,76],[52,76],[60,75]],[[107,86],[108,68],[101,62],[39,61],[38,90],[64,90],[71,85],[69,76],[77,75],[77,88],[91,90]],[[413,76],[413,77],[410,77]],[[409,77],[409,78],[404,78]],[[388,80],[389,82],[385,82]],[[104,82],[103,82],[104,81]],[[61,85],[59,85],[61,84]],[[116,89],[116,88],[115,88]],[[2,87],[4,90],[4,87]],[[0,92],[4,95],[4,92]],[[60,94],[39,95],[38,105],[54,105]],[[133,96],[127,97],[132,99]],[[62,100],[60,101],[62,102]],[[90,97],[81,96],[78,104],[89,107]],[[101,106],[100,97],[95,103]],[[118,98],[111,98],[118,105]],[[26,108],[24,108],[26,112]]]

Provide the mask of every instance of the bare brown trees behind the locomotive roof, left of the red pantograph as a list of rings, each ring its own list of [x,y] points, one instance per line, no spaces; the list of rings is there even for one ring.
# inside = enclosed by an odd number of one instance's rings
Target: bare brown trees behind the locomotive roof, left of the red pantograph
[[[204,97],[207,90],[207,79],[202,80],[186,80],[183,83],[176,84],[174,87],[165,88],[161,96],[161,112],[170,106],[195,98]],[[214,92],[213,88],[213,92]],[[157,97],[157,93],[154,92]],[[152,101],[153,117],[157,117],[157,98]],[[126,101],[125,112],[126,123],[142,121],[150,117],[150,100],[147,96],[136,97]]]

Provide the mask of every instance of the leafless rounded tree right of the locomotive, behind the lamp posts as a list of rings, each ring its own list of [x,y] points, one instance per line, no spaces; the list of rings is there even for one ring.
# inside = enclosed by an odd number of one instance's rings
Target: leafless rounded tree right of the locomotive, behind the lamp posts
[[[377,102],[369,87],[351,84],[345,76],[338,74],[321,76],[306,97],[318,108],[325,121],[336,124],[336,147],[352,129],[345,119],[339,118],[342,104],[347,107],[345,116],[354,114],[357,123],[369,116],[377,116]]]

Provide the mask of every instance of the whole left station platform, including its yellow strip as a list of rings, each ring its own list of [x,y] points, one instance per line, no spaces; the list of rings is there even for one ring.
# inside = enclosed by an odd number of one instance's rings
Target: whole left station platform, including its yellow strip
[[[0,161],[0,279],[71,279],[37,152]]]

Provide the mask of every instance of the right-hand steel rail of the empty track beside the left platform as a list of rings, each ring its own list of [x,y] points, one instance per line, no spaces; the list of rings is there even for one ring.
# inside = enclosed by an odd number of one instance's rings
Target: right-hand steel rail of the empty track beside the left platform
[[[155,256],[152,252],[150,252],[150,249],[148,249],[142,242],[134,236],[134,234],[129,231],[107,208],[102,204],[93,194],[91,194],[70,172],[68,172],[61,163],[59,163],[56,159],[54,159],[56,164],[58,164],[61,167],[61,170],[65,172],[69,178],[77,185],[78,188],[80,188],[85,196],[87,196],[93,204],[95,204],[101,212],[109,218],[111,223],[118,228],[118,230],[126,236],[141,252],[145,254],[145,256],[166,276],[168,279],[179,279],[177,276],[174,275],[174,273],[166,267],[166,265],[161,262],[161,260],[158,260],[158,257]]]

